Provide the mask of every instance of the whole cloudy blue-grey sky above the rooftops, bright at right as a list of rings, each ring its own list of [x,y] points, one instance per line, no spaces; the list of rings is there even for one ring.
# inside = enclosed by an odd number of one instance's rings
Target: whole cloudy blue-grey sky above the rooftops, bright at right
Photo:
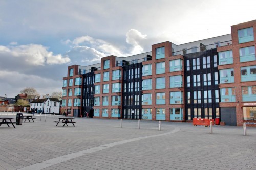
[[[230,34],[256,1],[0,0],[0,96],[62,91],[69,65]]]

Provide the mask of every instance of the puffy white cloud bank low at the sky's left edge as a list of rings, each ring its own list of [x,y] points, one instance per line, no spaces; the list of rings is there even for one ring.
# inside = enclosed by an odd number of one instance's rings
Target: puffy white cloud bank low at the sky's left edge
[[[15,61],[25,61],[28,65],[52,65],[70,62],[68,56],[54,55],[53,52],[48,51],[47,47],[38,44],[0,46],[0,54],[13,57]]]

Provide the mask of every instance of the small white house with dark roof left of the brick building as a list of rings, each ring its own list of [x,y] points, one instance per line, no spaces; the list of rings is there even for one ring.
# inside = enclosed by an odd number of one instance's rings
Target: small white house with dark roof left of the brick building
[[[60,101],[57,98],[35,99],[30,103],[30,111],[36,113],[59,114]]]

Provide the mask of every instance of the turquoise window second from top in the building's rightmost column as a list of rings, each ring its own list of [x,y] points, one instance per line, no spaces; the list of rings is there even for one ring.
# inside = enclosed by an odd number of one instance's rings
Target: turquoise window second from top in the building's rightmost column
[[[240,62],[255,61],[255,47],[248,46],[244,48],[239,48],[239,56]]]

